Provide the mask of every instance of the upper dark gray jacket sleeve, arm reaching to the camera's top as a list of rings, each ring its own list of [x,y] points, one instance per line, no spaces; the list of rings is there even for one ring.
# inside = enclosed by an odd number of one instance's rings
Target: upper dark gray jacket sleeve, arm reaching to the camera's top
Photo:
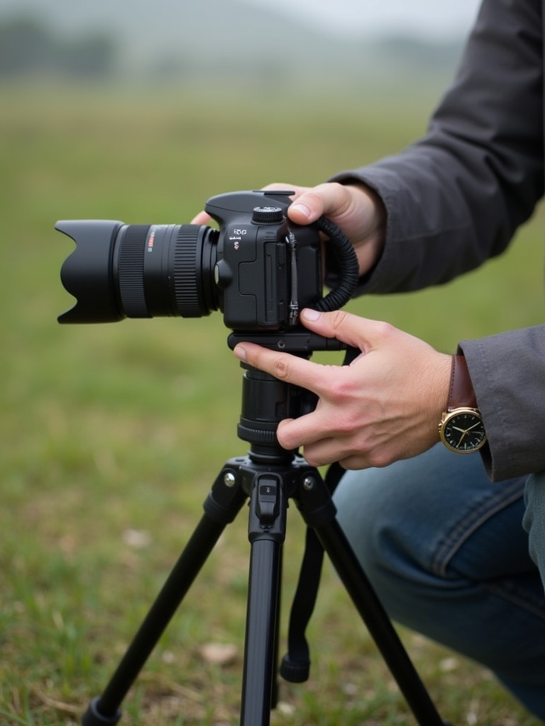
[[[416,290],[501,253],[543,194],[541,0],[485,0],[427,136],[346,171],[387,209],[387,243],[360,293]]]

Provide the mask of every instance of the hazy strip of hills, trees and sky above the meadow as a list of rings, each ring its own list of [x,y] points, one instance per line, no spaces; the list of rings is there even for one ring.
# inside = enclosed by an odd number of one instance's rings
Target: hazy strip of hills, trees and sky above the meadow
[[[2,0],[1,73],[326,90],[419,69],[448,76],[477,0]],[[412,66],[412,67],[411,67]]]

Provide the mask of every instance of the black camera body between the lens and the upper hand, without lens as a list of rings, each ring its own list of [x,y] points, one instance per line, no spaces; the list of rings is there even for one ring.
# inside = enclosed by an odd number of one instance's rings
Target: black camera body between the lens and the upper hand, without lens
[[[321,298],[319,235],[288,224],[289,194],[238,192],[206,203],[219,224],[219,309],[232,330],[287,329],[301,307]]]

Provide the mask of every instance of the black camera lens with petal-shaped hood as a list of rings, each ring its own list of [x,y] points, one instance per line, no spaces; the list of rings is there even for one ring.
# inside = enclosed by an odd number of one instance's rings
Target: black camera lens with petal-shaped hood
[[[202,317],[217,309],[217,231],[196,224],[57,222],[76,242],[61,279],[76,305],[59,322]]]

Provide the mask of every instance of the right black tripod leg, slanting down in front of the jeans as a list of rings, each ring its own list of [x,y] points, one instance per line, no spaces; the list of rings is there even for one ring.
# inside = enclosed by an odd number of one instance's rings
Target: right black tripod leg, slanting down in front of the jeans
[[[297,494],[299,509],[320,539],[417,722],[421,726],[445,726],[336,520],[326,485],[318,472],[307,476],[305,482]]]

